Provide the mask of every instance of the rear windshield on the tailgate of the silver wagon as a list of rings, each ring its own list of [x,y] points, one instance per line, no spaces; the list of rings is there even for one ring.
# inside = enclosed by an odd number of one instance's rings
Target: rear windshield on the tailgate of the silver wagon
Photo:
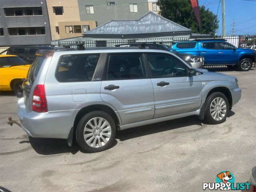
[[[37,56],[34,62],[31,64],[28,70],[28,76],[27,76],[27,80],[30,84],[33,84],[34,80],[36,79],[36,76],[38,75],[38,72],[43,62],[44,62],[44,57]]]

